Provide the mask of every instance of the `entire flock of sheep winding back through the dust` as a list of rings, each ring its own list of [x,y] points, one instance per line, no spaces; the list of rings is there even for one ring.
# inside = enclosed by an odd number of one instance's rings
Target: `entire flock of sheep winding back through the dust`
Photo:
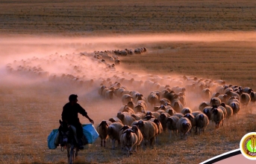
[[[187,140],[191,131],[198,134],[205,131],[210,120],[219,128],[225,119],[235,117],[241,108],[256,101],[252,88],[227,85],[221,79],[141,75],[117,68],[119,56],[146,52],[146,47],[142,47],[66,55],[56,53],[43,58],[15,60],[6,68],[9,73],[40,77],[49,82],[97,88],[103,99],[120,99],[122,107],[116,110],[117,114],[103,119],[96,129],[102,146],[110,138],[112,148],[118,141],[128,155],[139,145],[153,146],[159,134],[166,131],[170,137],[179,134],[181,139]],[[202,101],[190,106],[191,97]]]

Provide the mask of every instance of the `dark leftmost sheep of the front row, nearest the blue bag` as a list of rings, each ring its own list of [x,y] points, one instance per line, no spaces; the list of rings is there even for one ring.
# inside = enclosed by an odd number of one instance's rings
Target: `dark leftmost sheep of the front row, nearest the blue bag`
[[[102,122],[97,126],[96,130],[99,133],[99,137],[101,138],[101,146],[102,146],[102,141],[104,142],[104,147],[106,145],[106,140],[108,138],[107,135],[107,128],[112,122],[102,120]]]

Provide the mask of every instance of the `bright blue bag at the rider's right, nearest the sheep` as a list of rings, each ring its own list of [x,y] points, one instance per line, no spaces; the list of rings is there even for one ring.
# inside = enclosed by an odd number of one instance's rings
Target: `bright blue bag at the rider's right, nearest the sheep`
[[[93,144],[99,137],[98,132],[94,128],[93,124],[83,124],[83,134],[89,144]]]

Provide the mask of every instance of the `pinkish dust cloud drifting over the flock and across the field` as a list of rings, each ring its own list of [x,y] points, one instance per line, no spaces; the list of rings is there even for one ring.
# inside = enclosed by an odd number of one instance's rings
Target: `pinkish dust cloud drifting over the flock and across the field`
[[[172,33],[168,35],[141,34],[102,37],[2,36],[0,39],[0,82],[1,87],[4,87],[4,85],[10,86],[12,84],[31,85],[31,83],[34,82],[37,83],[37,85],[42,84],[42,82],[44,85],[54,85],[56,88],[63,90],[60,94],[66,94],[66,99],[62,99],[63,104],[67,102],[69,94],[78,94],[79,103],[87,109],[90,116],[95,119],[95,122],[99,122],[102,119],[115,117],[119,108],[122,106],[120,98],[112,100],[104,99],[98,94],[99,85],[102,83],[102,80],[116,75],[120,78],[125,77],[125,79],[131,79],[134,77],[135,80],[145,81],[148,73],[139,71],[136,72],[137,76],[134,76],[135,72],[133,72],[134,74],[129,75],[128,73],[131,72],[131,70],[124,70],[122,68],[122,60],[121,65],[116,65],[115,70],[112,68],[105,70],[107,67],[106,65],[97,62],[96,59],[93,59],[93,51],[124,50],[125,48],[134,50],[134,48],[146,47],[143,45],[147,43],[154,44],[154,42],[250,42],[255,39],[255,36],[256,33],[252,32]],[[150,47],[147,48],[150,52]],[[81,53],[86,55],[81,56]],[[136,55],[125,57],[136,58]],[[24,71],[21,73],[10,73],[6,69],[7,65],[11,66],[13,70],[18,70],[20,65],[27,69],[40,69],[40,71],[49,72],[49,75],[40,77],[34,74],[31,75],[29,73],[24,73]],[[125,74],[122,72],[125,72]],[[53,75],[61,76],[63,73],[72,74],[79,79],[93,79],[93,85],[91,88],[83,88],[79,87],[77,83],[64,82],[61,80],[49,82],[49,77]],[[183,75],[172,76],[172,78],[178,79],[181,76]],[[115,79],[112,78],[111,82],[115,82]],[[74,85],[77,87],[74,87]],[[149,90],[146,88],[134,88],[133,86],[128,85],[125,86],[130,91],[139,91],[146,97],[151,91],[154,91],[154,88]],[[50,90],[49,94],[51,94]],[[40,96],[40,94],[38,94],[38,96]],[[196,106],[202,102],[202,99],[198,97],[193,99],[192,97],[187,97],[187,100],[188,99],[190,99],[190,101],[187,101],[186,106],[190,108],[196,108]],[[148,110],[152,110],[152,106],[149,105]],[[100,111],[109,112],[104,112],[103,114]],[[85,122],[87,119],[82,119],[82,122],[83,121]]]

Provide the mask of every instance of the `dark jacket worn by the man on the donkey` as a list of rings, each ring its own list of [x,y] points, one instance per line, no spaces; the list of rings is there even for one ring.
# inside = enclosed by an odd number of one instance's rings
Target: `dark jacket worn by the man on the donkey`
[[[78,103],[75,105],[71,105],[70,102],[66,103],[66,105],[63,106],[62,111],[62,120],[67,120],[69,124],[76,124],[79,122],[78,113],[83,115],[84,117],[87,116],[87,111],[84,110],[84,108],[81,107]]]

